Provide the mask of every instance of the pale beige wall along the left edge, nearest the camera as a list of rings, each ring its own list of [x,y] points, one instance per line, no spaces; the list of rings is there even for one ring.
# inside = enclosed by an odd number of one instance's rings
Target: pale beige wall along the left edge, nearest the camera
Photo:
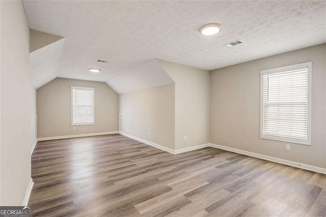
[[[35,88],[21,1],[1,1],[1,205],[21,206],[31,180]],[[18,63],[17,63],[18,60]]]

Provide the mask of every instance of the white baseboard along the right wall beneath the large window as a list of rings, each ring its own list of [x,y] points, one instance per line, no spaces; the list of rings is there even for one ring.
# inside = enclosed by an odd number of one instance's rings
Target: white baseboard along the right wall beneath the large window
[[[317,172],[317,173],[326,174],[326,169],[320,168],[320,167],[315,167],[315,166],[311,166],[311,165],[307,165],[307,164],[301,164],[301,163],[290,161],[290,160],[285,160],[285,159],[281,159],[281,158],[277,158],[277,157],[271,157],[271,156],[267,156],[267,155],[263,155],[263,154],[257,154],[257,153],[250,152],[250,151],[243,151],[240,149],[230,148],[230,147],[216,145],[216,144],[212,144],[212,143],[210,143],[209,146],[213,147],[213,148],[219,148],[219,149],[223,149],[226,151],[235,152],[238,154],[243,154],[243,155],[247,155],[247,156],[251,156],[251,157],[257,157],[260,159],[277,162],[279,164],[284,164],[284,165],[288,165],[291,167],[296,167],[296,168],[301,168],[304,170],[309,170],[309,171],[313,171],[313,172]]]

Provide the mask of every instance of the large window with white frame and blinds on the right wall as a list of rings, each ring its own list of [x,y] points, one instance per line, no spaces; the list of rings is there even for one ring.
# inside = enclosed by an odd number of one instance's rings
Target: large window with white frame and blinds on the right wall
[[[311,145],[311,62],[260,75],[260,138]]]

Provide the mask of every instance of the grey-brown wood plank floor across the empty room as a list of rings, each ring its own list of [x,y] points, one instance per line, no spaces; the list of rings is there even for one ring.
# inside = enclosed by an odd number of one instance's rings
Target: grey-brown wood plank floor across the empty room
[[[326,175],[120,134],[38,142],[32,178],[35,216],[326,216]]]

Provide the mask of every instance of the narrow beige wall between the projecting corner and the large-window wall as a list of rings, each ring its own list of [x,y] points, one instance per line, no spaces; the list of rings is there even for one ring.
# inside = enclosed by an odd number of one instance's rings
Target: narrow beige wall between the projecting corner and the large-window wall
[[[175,82],[175,149],[209,143],[209,71],[162,60],[158,63]]]

